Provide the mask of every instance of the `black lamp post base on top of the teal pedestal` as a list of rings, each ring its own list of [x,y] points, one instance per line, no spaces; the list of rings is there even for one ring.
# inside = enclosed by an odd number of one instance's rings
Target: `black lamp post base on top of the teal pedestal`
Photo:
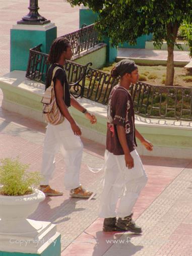
[[[50,22],[50,20],[45,19],[38,13],[38,0],[30,0],[28,9],[30,12],[22,17],[22,20],[18,21],[17,24],[44,25]]]

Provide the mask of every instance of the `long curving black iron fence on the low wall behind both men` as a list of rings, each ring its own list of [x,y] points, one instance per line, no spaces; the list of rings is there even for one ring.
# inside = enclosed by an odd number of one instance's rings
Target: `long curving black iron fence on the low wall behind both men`
[[[47,55],[40,45],[30,49],[26,77],[44,81],[48,70]],[[65,70],[75,97],[86,97],[106,105],[109,94],[118,79],[99,70],[67,61]],[[143,117],[192,120],[192,88],[166,87],[138,82],[130,87],[136,114]]]

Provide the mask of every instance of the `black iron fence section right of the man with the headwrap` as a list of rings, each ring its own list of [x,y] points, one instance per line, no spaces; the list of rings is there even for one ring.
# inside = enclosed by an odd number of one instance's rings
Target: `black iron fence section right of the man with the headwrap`
[[[130,88],[136,114],[144,117],[192,120],[192,88],[142,82]]]

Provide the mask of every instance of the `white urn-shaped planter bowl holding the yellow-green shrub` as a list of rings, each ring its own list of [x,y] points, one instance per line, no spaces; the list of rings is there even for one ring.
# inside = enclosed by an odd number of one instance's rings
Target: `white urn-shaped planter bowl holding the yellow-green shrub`
[[[0,195],[0,234],[1,233],[31,233],[31,227],[27,217],[38,207],[39,202],[45,199],[45,194],[34,189],[34,193],[22,196]],[[42,225],[35,228],[39,230]]]

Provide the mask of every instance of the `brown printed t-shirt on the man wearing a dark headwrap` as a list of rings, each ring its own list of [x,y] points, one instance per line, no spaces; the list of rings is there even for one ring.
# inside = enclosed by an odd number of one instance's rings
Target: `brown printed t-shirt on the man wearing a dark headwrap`
[[[110,93],[107,108],[107,142],[106,149],[114,155],[124,155],[118,139],[117,125],[124,127],[126,142],[133,151],[136,146],[135,115],[132,96],[124,87],[114,86]]]

